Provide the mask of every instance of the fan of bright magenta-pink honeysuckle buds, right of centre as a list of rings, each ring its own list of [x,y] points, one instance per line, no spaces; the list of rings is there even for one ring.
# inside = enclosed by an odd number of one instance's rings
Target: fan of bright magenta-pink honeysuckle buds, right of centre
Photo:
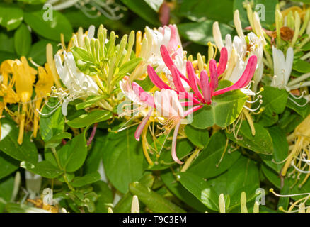
[[[202,72],[200,73],[200,79],[195,74],[193,64],[190,61],[186,63],[186,72],[188,78],[185,77],[173,63],[173,60],[164,45],[161,46],[161,57],[163,58],[163,62],[165,62],[166,66],[171,71],[173,78],[173,84],[171,85],[173,86],[169,86],[168,84],[163,82],[163,80],[156,74],[153,67],[149,65],[147,67],[147,72],[151,81],[159,89],[172,89],[172,87],[175,87],[176,89],[174,90],[176,93],[183,92],[183,94],[185,94],[185,99],[192,100],[193,104],[202,103],[209,105],[212,103],[212,96],[224,94],[225,92],[229,92],[235,89],[243,89],[251,81],[257,65],[257,57],[256,55],[252,55],[248,58],[246,68],[239,80],[230,87],[226,87],[224,89],[219,89],[216,91],[219,84],[219,77],[226,70],[226,65],[228,62],[228,51],[225,47],[223,47],[221,50],[221,56],[219,58],[218,65],[217,62],[213,59],[209,61],[209,77],[207,72],[205,70],[202,70]],[[188,86],[193,90],[193,94],[190,94],[184,88],[182,81],[185,81],[188,84]],[[201,92],[199,87],[201,89]],[[185,104],[186,103],[183,103],[183,105]]]

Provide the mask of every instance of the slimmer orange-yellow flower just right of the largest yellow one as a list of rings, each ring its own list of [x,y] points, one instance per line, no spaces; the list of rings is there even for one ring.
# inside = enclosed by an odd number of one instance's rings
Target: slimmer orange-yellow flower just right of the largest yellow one
[[[44,67],[38,67],[38,82],[35,84],[35,110],[41,109],[42,99],[50,93],[51,87],[54,85],[54,78],[50,66],[46,63]],[[37,137],[39,114],[35,111],[33,121],[33,137]]]

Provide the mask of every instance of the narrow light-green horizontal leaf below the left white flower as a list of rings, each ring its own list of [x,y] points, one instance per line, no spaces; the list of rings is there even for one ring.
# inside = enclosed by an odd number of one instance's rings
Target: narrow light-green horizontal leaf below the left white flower
[[[90,126],[93,123],[107,121],[110,118],[112,118],[112,113],[110,111],[96,110],[82,114],[71,121],[67,121],[66,123],[72,128],[84,128],[86,126]]]

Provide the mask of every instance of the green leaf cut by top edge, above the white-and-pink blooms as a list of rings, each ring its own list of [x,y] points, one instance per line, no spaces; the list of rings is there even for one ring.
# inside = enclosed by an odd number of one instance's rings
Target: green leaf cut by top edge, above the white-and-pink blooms
[[[145,1],[121,0],[130,10],[137,13],[145,21],[160,26],[157,13]]]

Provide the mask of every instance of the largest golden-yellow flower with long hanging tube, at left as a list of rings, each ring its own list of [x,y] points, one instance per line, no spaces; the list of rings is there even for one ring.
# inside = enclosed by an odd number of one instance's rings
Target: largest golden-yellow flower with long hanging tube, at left
[[[13,77],[15,78],[16,93],[22,102],[22,112],[18,113],[19,119],[19,134],[18,144],[23,143],[23,132],[25,127],[25,116],[29,113],[28,102],[33,94],[33,84],[35,82],[35,74],[37,70],[28,65],[25,57],[21,57],[20,60],[15,60],[13,63]]]

